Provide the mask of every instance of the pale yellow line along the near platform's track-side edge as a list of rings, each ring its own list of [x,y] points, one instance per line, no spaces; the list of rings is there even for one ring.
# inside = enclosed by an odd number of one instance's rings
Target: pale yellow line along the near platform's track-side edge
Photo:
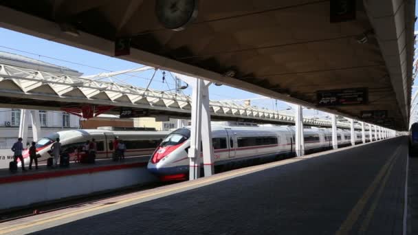
[[[146,197],[153,197],[155,195],[164,194],[164,193],[167,193],[167,192],[174,192],[174,191],[181,190],[181,189],[184,189],[184,188],[192,188],[193,186],[197,186],[199,184],[222,181],[223,179],[228,179],[228,178],[234,177],[236,175],[242,175],[242,174],[245,174],[245,173],[248,173],[248,172],[257,172],[259,170],[273,168],[275,166],[281,166],[281,165],[284,165],[284,164],[289,164],[289,163],[293,163],[293,162],[296,162],[296,161],[302,161],[302,160],[303,159],[288,159],[288,160],[285,160],[283,162],[278,162],[276,164],[271,164],[271,165],[269,164],[268,166],[257,166],[257,167],[250,168],[250,169],[247,169],[247,170],[240,170],[240,171],[237,171],[237,172],[234,171],[234,172],[225,173],[225,174],[222,174],[222,175],[214,175],[213,177],[201,178],[201,179],[199,179],[195,182],[194,181],[187,182],[184,185],[181,184],[181,185],[179,185],[178,187],[175,187],[175,188],[168,188],[166,190],[159,190],[157,192],[148,192],[148,193],[142,194],[138,197],[133,197],[131,199],[124,199],[122,201],[118,201],[116,203],[109,204],[109,205],[105,205],[105,204],[96,205],[92,208],[85,208],[85,209],[78,210],[76,212],[70,212],[68,214],[63,214],[63,215],[58,215],[58,216],[50,216],[50,217],[35,220],[35,221],[29,221],[27,223],[23,223],[23,224],[17,225],[17,226],[12,225],[12,226],[9,226],[9,227],[4,227],[4,228],[1,229],[0,234],[6,234],[8,232],[13,232],[13,231],[16,231],[16,230],[22,230],[22,229],[25,229],[27,227],[34,227],[36,225],[42,225],[42,224],[49,223],[49,222],[52,222],[52,221],[57,221],[57,220],[60,220],[60,219],[66,219],[66,218],[71,217],[71,216],[76,216],[78,214],[83,214],[83,213],[91,212],[91,211],[94,211],[94,210],[109,208],[109,207],[113,207],[115,205],[120,205],[122,203],[129,203],[131,201],[144,199]]]

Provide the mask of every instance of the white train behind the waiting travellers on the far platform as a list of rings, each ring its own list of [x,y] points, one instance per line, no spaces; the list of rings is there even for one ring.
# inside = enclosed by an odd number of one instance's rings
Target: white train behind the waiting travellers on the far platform
[[[95,139],[97,145],[96,159],[111,158],[113,153],[113,139],[118,137],[126,145],[125,156],[151,155],[158,144],[169,131],[108,131],[105,129],[80,129],[58,131],[47,135],[36,142],[36,150],[41,157],[38,161],[45,161],[51,157],[48,153],[56,138],[60,138],[62,151],[70,153],[71,159],[75,149],[83,146],[87,140]],[[28,150],[23,151],[25,165],[30,162]],[[20,165],[20,162],[19,162]]]

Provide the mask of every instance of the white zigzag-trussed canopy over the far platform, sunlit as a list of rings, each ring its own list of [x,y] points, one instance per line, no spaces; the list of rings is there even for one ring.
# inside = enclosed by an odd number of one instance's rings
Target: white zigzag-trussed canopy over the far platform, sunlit
[[[16,64],[14,60],[12,63]],[[129,71],[149,69],[154,68],[144,66]],[[101,80],[123,72],[126,71],[78,77],[68,75],[63,70],[41,71],[0,63],[0,107],[61,110],[69,113],[83,111],[84,107],[90,107],[90,110],[95,107],[99,110],[102,108],[100,113],[115,115],[131,111],[134,113],[132,117],[190,118],[190,96]],[[295,122],[294,115],[288,113],[234,102],[212,100],[210,112],[213,120],[272,124]],[[330,120],[318,118],[304,118],[303,122],[307,126],[331,126]],[[338,127],[350,128],[350,125],[340,120]],[[360,130],[360,124],[356,124],[355,128]]]

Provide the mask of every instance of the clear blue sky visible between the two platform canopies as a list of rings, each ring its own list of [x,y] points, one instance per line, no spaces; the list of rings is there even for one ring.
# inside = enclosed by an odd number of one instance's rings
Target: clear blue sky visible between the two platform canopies
[[[417,9],[415,14],[418,14]],[[415,26],[417,30],[417,26]],[[69,67],[82,72],[85,75],[99,74],[106,71],[120,71],[124,69],[134,69],[142,67],[140,64],[131,63],[126,60],[120,60],[109,56],[103,56],[94,52],[85,51],[76,47],[70,47],[60,43],[47,41],[34,36],[21,34],[11,30],[6,30],[0,27],[0,51],[11,52],[14,54],[20,54],[22,56],[28,56],[37,60],[43,60],[47,63],[55,65],[61,65]],[[19,50],[19,51],[17,51]],[[30,52],[30,53],[27,53]],[[49,58],[50,57],[50,58]],[[52,59],[56,58],[56,59]],[[67,63],[63,60],[67,60],[73,63]],[[153,71],[146,71],[140,74],[135,74],[136,77],[122,76],[122,79],[126,79],[126,82],[138,87],[146,87],[148,80],[151,78]],[[161,71],[155,74],[155,78],[151,83],[151,88],[166,91],[174,88],[174,80],[169,75],[166,76],[166,82],[162,82]],[[186,95],[191,94],[191,89],[184,90]],[[232,99],[247,99],[256,98],[260,95],[242,91],[228,86],[211,86],[210,87],[210,99],[211,100],[232,100]],[[285,102],[278,101],[277,105],[275,100],[252,100],[252,105],[257,107],[265,107],[267,109],[284,110],[288,106]],[[315,111],[304,111],[307,115],[318,114]]]

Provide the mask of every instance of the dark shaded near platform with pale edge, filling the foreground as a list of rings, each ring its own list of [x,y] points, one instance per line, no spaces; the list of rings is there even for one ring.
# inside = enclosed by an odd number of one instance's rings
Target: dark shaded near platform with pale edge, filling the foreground
[[[0,224],[0,234],[402,234],[406,137]]]

